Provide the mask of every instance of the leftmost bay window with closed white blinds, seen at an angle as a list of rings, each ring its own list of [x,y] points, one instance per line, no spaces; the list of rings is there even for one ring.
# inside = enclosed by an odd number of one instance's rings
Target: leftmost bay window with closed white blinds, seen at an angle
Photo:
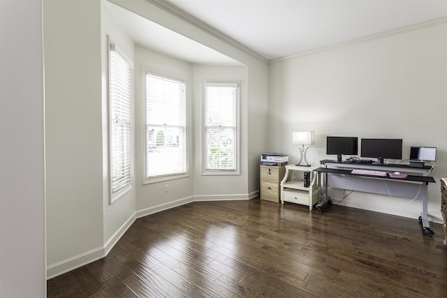
[[[132,188],[132,68],[124,52],[110,44],[110,201]]]

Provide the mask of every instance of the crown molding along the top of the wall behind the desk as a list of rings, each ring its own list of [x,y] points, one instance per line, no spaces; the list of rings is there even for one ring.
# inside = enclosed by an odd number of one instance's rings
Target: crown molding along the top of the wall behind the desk
[[[305,51],[305,52],[300,52],[300,53],[293,54],[293,55],[290,55],[290,56],[271,59],[271,60],[269,60],[269,62],[283,61],[283,60],[293,59],[293,58],[297,58],[297,57],[301,57],[301,56],[305,56],[305,55],[309,55],[309,54],[316,54],[316,53],[319,53],[319,52],[325,52],[325,51],[328,51],[328,50],[334,50],[334,49],[337,49],[339,47],[346,47],[348,45],[355,45],[357,43],[364,43],[364,42],[369,41],[369,40],[376,40],[376,39],[379,39],[379,38],[393,36],[393,35],[409,32],[409,31],[413,31],[413,30],[424,29],[424,28],[427,28],[427,27],[434,27],[434,26],[437,26],[439,24],[444,24],[444,23],[447,23],[447,17],[438,17],[438,18],[433,19],[433,20],[428,20],[428,21],[425,21],[425,22],[417,23],[417,24],[411,24],[411,25],[408,25],[408,26],[404,26],[404,27],[400,27],[400,28],[396,28],[396,29],[391,29],[391,30],[383,31],[383,32],[379,32],[379,33],[373,33],[373,34],[369,34],[367,36],[362,36],[360,38],[354,38],[354,39],[351,39],[351,40],[346,40],[346,41],[343,41],[342,43],[334,43],[332,45],[325,45],[323,47],[318,47],[316,49],[308,50],[308,51]]]

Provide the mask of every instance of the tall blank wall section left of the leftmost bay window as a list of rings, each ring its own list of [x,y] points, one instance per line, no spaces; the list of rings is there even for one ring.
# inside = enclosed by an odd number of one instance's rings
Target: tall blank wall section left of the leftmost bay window
[[[43,1],[49,277],[103,255],[100,3]]]

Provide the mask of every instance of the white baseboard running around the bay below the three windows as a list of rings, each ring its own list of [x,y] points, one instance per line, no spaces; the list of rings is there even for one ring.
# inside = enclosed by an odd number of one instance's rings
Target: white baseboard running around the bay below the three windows
[[[188,204],[191,202],[205,202],[205,201],[224,201],[224,200],[250,200],[252,198],[256,198],[258,195],[258,191],[254,191],[249,194],[234,194],[234,195],[196,195],[187,198],[182,198],[179,200],[175,200],[173,202],[168,202],[166,204],[159,204],[154,207],[149,207],[146,209],[142,209],[139,211],[135,211],[123,225],[115,232],[115,234],[105,241],[105,244],[101,247],[94,248],[91,251],[87,251],[85,253],[81,253],[79,255],[75,255],[72,258],[68,258],[66,260],[61,260],[60,262],[56,262],[51,265],[47,265],[47,279],[54,278],[61,274],[64,274],[68,271],[77,269],[84,265],[87,265],[91,262],[104,258],[110,250],[117,244],[117,241],[122,237],[122,235],[128,230],[132,223],[136,218],[140,218],[142,216],[147,216],[150,214],[154,214],[163,210],[171,209],[174,207],[178,207],[184,204]]]

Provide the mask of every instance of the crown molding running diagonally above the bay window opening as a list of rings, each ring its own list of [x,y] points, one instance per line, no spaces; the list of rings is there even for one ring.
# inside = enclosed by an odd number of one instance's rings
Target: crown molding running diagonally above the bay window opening
[[[166,1],[166,0],[146,0],[146,1],[158,8],[161,8],[162,10],[165,10],[167,13],[170,13],[171,15],[177,17],[178,19],[180,19],[188,24],[191,24],[193,27],[196,27],[197,29],[204,31],[205,33],[213,36],[214,38],[217,38],[217,39],[223,41],[224,43],[227,43],[228,45],[236,47],[238,50],[241,50],[242,52],[249,54],[250,56],[252,56],[258,60],[261,60],[265,63],[268,62],[268,59],[265,59],[265,57],[262,57],[257,52],[254,52],[253,50],[249,49],[249,47],[246,47],[246,46],[242,45],[241,43],[238,43],[233,38],[226,36],[221,31],[214,29],[210,25],[199,20],[197,17],[193,17],[193,15],[186,13],[184,10],[181,10],[180,8],[178,8],[177,6],[174,6],[173,4],[169,3],[168,1]]]

